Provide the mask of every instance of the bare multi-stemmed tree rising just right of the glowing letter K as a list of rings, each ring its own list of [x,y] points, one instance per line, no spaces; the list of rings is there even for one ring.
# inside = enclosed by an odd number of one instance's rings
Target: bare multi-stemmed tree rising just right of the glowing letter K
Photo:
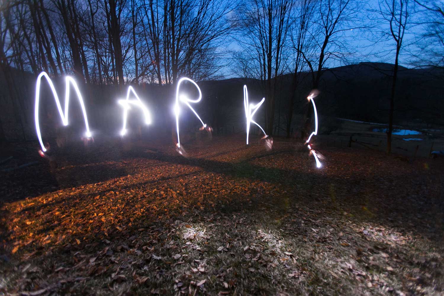
[[[261,79],[266,92],[266,131],[273,134],[277,77],[284,71],[291,0],[251,0],[238,10],[238,43],[246,51],[251,76]],[[256,75],[255,75],[256,74]]]

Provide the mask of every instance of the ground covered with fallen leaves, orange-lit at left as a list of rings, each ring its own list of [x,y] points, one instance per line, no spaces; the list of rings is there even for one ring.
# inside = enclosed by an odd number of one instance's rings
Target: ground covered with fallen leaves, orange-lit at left
[[[244,141],[109,140],[1,173],[0,295],[443,295],[442,160],[326,147],[317,169]]]

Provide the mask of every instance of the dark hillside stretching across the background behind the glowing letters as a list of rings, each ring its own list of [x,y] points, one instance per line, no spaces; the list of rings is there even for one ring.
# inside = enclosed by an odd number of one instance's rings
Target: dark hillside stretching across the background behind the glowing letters
[[[320,95],[315,99],[319,116],[388,122],[392,68],[393,65],[389,63],[364,62],[325,70],[319,84]],[[0,76],[0,123],[8,139],[22,139],[23,134],[26,138],[34,138],[33,110],[36,77],[31,73],[18,70],[13,70],[12,73],[16,83],[13,91],[18,94],[18,99],[11,99],[10,89],[4,77]],[[302,74],[304,80],[297,90],[293,110],[295,118],[298,118],[297,114],[301,114],[304,108],[307,108],[306,96],[312,86],[311,75]],[[398,78],[395,124],[417,127],[444,126],[444,70],[400,67]],[[291,80],[292,74],[278,78],[275,123],[279,122],[281,127],[284,126],[288,114]],[[62,79],[56,79],[55,83],[59,90],[59,97],[63,100],[64,83]],[[202,81],[198,84],[202,89],[203,98],[202,103],[196,104],[196,110],[203,118],[207,118],[206,122],[224,132],[245,128],[242,91],[244,84],[248,86],[250,102],[258,102],[265,96],[263,84],[258,79],[230,78]],[[121,121],[116,118],[121,116],[121,107],[116,103],[119,96],[116,87],[91,86],[88,91],[85,86],[80,86],[80,88],[83,89],[88,117],[91,118],[90,125],[108,130],[110,134],[118,130]],[[151,85],[135,88],[139,96],[146,99],[148,106],[153,110],[156,116],[156,129],[169,128],[171,104],[174,100],[172,89]],[[47,116],[49,116],[48,112],[56,112],[52,95],[48,91],[46,87],[47,93],[44,95],[46,97],[44,100],[47,100],[47,104],[42,105],[44,107],[41,111],[46,112]],[[81,113],[75,111],[78,103],[74,100],[71,102],[74,109],[70,107],[69,117],[81,122],[82,118],[78,116]],[[258,122],[263,122],[264,109],[265,106],[256,115]],[[192,129],[195,123],[194,118],[189,116],[183,120],[182,126],[188,124]],[[188,120],[187,123],[186,120]],[[135,121],[137,122],[137,119]],[[300,123],[300,120],[295,119],[293,126],[297,128]]]

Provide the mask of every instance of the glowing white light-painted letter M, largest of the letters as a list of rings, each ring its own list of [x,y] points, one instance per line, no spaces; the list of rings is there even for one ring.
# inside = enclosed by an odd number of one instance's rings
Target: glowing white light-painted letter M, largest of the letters
[[[62,122],[63,122],[64,126],[68,125],[69,84],[71,83],[72,87],[74,87],[74,90],[77,94],[77,98],[79,99],[80,107],[82,108],[83,118],[85,119],[86,136],[87,136],[87,138],[90,138],[91,131],[89,130],[89,126],[88,126],[88,119],[87,119],[87,115],[86,115],[85,104],[83,103],[82,95],[80,94],[79,87],[77,86],[77,83],[75,83],[75,80],[70,76],[65,77],[65,81],[66,81],[66,84],[65,84],[65,106],[64,106],[65,110],[64,110],[64,114],[63,114],[62,107],[60,106],[59,96],[57,95],[56,88],[54,87],[54,84],[52,83],[51,78],[49,77],[49,75],[46,72],[41,72],[39,74],[39,76],[37,76],[36,104],[35,104],[35,109],[34,109],[34,120],[36,123],[37,138],[39,138],[39,142],[40,142],[40,146],[42,147],[42,151],[46,152],[46,148],[43,145],[42,135],[40,133],[40,124],[39,124],[40,84],[41,84],[42,77],[46,78],[46,81],[48,81],[49,87],[51,87],[52,95],[54,96],[54,99],[56,100],[57,109],[59,110],[59,114],[60,114],[60,117],[62,118]]]

